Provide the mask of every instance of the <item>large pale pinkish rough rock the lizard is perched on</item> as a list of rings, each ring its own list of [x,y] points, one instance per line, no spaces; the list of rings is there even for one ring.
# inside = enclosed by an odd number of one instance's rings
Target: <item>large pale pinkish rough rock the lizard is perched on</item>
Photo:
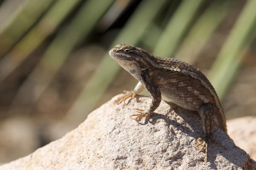
[[[205,153],[195,148],[203,136],[197,113],[172,108],[161,102],[146,122],[130,119],[134,108],[149,105],[148,97],[116,105],[115,100],[96,109],[75,130],[29,156],[4,164],[0,170],[251,170],[256,162],[215,127],[215,142],[210,143],[208,162]]]

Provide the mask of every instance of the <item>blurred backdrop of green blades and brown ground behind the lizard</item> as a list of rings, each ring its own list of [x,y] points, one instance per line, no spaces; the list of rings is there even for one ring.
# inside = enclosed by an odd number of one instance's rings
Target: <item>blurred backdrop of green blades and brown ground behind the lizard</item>
[[[0,162],[137,83],[117,43],[200,68],[227,119],[256,115],[256,0],[0,0]],[[143,93],[147,95],[145,92]]]

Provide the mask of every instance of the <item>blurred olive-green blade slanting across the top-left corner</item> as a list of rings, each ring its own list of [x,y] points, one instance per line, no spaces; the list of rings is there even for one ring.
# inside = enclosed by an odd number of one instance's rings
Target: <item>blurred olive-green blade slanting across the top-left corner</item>
[[[8,52],[50,8],[53,0],[24,0],[0,27],[0,56]],[[4,2],[5,3],[5,2]],[[5,4],[3,4],[4,6]],[[4,7],[2,7],[4,8]]]

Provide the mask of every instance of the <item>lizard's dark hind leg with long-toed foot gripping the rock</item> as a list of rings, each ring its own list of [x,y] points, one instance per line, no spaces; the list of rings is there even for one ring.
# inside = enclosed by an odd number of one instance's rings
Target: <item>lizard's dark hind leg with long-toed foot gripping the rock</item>
[[[215,106],[211,103],[205,103],[201,106],[198,111],[198,114],[201,116],[204,130],[204,139],[198,138],[199,144],[195,147],[201,146],[201,149],[198,153],[201,153],[205,148],[205,161],[207,162],[207,153],[208,153],[208,144],[213,139],[213,114],[214,114]]]

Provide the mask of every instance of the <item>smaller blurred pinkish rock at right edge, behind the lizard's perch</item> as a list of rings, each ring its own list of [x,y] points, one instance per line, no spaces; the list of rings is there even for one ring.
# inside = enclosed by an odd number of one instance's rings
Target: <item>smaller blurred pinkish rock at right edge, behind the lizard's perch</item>
[[[246,116],[227,121],[228,134],[237,146],[256,159],[256,116]]]

